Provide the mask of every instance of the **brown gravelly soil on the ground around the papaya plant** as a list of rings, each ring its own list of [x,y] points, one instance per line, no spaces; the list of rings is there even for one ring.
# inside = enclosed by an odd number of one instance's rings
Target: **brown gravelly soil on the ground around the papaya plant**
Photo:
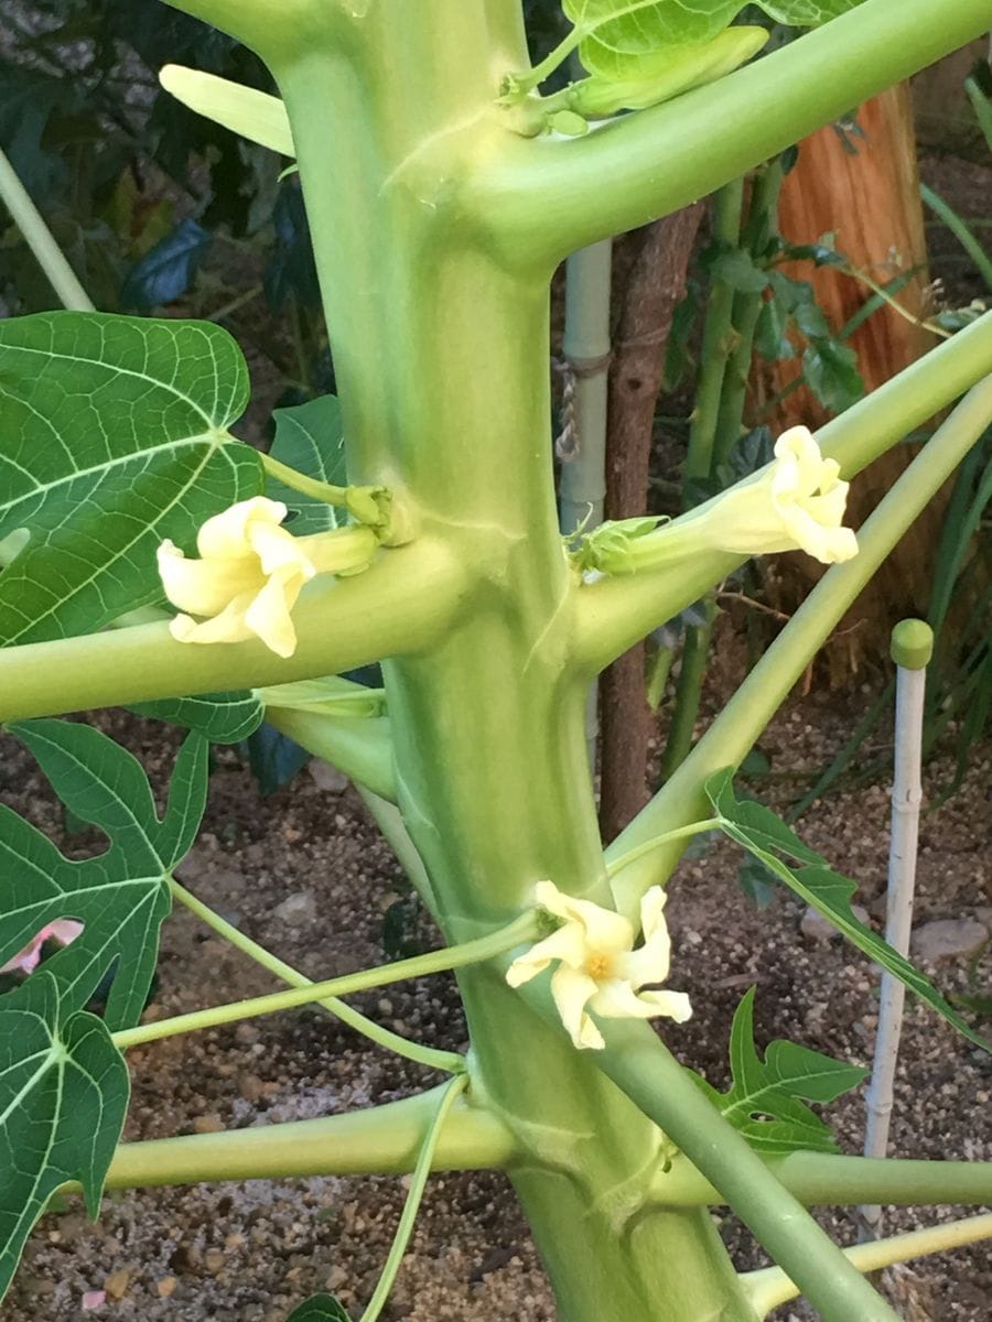
[[[848,718],[849,719],[849,718]],[[102,718],[155,777],[168,767],[161,727]],[[771,727],[762,747],[772,775],[765,797],[787,797],[795,777],[821,764],[847,720],[825,702],[806,699]],[[169,736],[168,754],[175,746]],[[4,800],[61,834],[58,809],[30,759],[3,740]],[[935,764],[930,785],[946,767]],[[922,832],[918,921],[979,916],[992,920],[988,873],[989,755]],[[806,818],[806,838],[861,883],[858,899],[880,912],[885,878],[886,795],[872,788],[837,795]],[[78,846],[77,846],[78,847]],[[757,1036],[791,1035],[807,1046],[868,1063],[876,976],[835,941],[804,936],[802,906],[782,894],[757,912],[737,883],[738,858],[723,845],[685,863],[669,904],[679,986],[696,989],[694,1018],[672,1029],[680,1056],[714,1084],[726,1081],[726,1035],[746,986],[757,984]],[[306,772],[294,793],[261,805],[237,755],[222,750],[212,779],[205,830],[185,869],[186,883],[251,936],[312,976],[336,974],[382,958],[385,911],[405,894],[398,869],[352,791],[320,789]],[[304,876],[311,879],[302,888]],[[328,928],[317,916],[332,915]],[[430,933],[421,924],[421,936]],[[988,947],[934,970],[946,990],[970,977],[988,989]],[[224,988],[222,997],[217,988]],[[160,985],[149,1014],[165,1015],[212,999],[271,988],[265,973],[230,951],[188,914],[168,924]],[[706,993],[702,994],[702,989]],[[356,998],[362,1009],[425,1042],[464,1046],[454,986],[444,978]],[[366,1048],[316,1011],[242,1023],[131,1052],[130,1138],[212,1132],[325,1114],[403,1096],[423,1071]],[[921,1157],[992,1158],[992,1059],[919,1006],[909,1011],[901,1060],[894,1147]],[[831,1108],[847,1151],[857,1151],[862,1096]],[[283,1322],[307,1294],[329,1288],[357,1310],[368,1300],[395,1225],[398,1179],[310,1179],[217,1188],[114,1194],[90,1225],[75,1204],[36,1229],[3,1310],[4,1322],[70,1322],[87,1292],[104,1292],[94,1317],[143,1322]],[[942,1210],[938,1215],[952,1215]],[[891,1229],[923,1224],[927,1214],[894,1214]],[[847,1215],[827,1224],[850,1239]],[[727,1241],[741,1266],[761,1257],[727,1218]],[[934,1259],[899,1272],[888,1288],[909,1319],[987,1322],[992,1270],[987,1248]],[[806,1318],[800,1305],[780,1318]],[[550,1294],[507,1181],[496,1174],[431,1181],[393,1300],[385,1314],[409,1322],[553,1322]]]

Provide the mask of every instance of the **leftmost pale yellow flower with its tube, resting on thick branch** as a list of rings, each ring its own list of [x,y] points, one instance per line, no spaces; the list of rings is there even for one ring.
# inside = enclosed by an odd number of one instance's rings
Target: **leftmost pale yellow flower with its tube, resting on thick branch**
[[[280,657],[296,650],[290,612],[316,574],[365,568],[376,534],[361,526],[294,537],[280,524],[286,505],[254,496],[202,525],[200,559],[171,541],[159,547],[165,595],[180,611],[169,629],[180,642],[243,642],[258,637]],[[201,616],[197,623],[192,616]]]

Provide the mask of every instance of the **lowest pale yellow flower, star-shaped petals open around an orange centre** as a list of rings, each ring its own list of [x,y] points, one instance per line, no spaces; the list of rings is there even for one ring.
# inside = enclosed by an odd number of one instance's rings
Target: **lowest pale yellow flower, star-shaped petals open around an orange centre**
[[[639,990],[668,977],[672,943],[661,912],[667,895],[660,886],[652,886],[640,902],[644,943],[636,951],[634,924],[622,914],[565,895],[553,882],[540,882],[534,894],[542,908],[565,921],[511,964],[507,981],[517,988],[557,962],[552,995],[577,1047],[604,1046],[590,1010],[606,1019],[667,1015],[684,1023],[690,1017],[684,992]]]

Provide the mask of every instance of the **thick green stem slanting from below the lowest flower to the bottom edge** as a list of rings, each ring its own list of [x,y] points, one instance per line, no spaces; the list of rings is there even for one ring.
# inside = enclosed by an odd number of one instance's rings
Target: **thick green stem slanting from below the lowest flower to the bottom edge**
[[[604,1035],[607,1046],[594,1054],[595,1064],[713,1181],[824,1322],[898,1322],[651,1029],[611,1021]]]

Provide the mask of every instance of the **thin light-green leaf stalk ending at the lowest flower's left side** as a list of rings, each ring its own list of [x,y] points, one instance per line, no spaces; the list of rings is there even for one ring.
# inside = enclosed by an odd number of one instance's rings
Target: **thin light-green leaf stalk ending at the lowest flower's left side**
[[[123,1029],[112,1035],[114,1044],[120,1051],[140,1046],[144,1042],[159,1042],[161,1038],[175,1038],[181,1032],[197,1032],[201,1029],[216,1029],[222,1023],[237,1023],[261,1014],[276,1014],[279,1010],[295,1010],[302,1005],[327,1001],[328,997],[349,995],[353,992],[366,992],[369,988],[389,986],[405,982],[407,978],[423,977],[429,973],[444,973],[450,969],[463,969],[470,964],[480,964],[496,954],[504,954],[513,947],[534,940],[541,931],[541,919],[534,910],[522,914],[513,923],[480,936],[475,941],[448,945],[429,954],[417,954],[411,960],[398,960],[395,964],[362,969],[358,973],[345,973],[325,982],[312,982],[310,986],[294,988],[290,992],[274,992],[269,995],[249,997],[230,1005],[216,1005],[208,1010],[194,1010],[192,1014],[179,1014],[171,1019],[143,1023],[136,1029]]]

